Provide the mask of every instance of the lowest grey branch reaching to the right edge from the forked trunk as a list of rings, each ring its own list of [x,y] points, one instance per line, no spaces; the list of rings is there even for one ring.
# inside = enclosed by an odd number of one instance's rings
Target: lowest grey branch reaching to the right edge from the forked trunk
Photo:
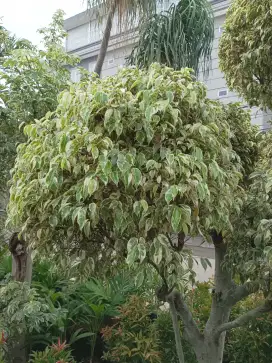
[[[271,311],[272,311],[272,300],[267,300],[262,306],[259,306],[255,309],[248,311],[247,313],[245,313],[242,316],[239,316],[239,318],[233,321],[220,325],[215,331],[215,336],[216,338],[219,338],[220,334],[223,333],[224,331],[238,328],[248,323],[250,320],[256,319],[259,316],[262,316],[263,314],[269,313]]]

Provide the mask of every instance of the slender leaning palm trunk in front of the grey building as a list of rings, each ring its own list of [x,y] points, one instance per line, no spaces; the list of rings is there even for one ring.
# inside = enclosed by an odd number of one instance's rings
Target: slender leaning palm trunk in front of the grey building
[[[117,0],[114,0],[112,2],[112,5],[111,5],[109,13],[108,13],[105,31],[103,34],[99,54],[97,57],[95,68],[94,68],[94,72],[97,73],[99,75],[99,77],[101,76],[103,63],[104,63],[105,56],[106,56],[107,49],[108,49],[108,44],[109,44],[110,34],[111,34],[111,29],[112,29],[112,21],[113,21],[114,13],[116,10],[116,6],[117,6]]]

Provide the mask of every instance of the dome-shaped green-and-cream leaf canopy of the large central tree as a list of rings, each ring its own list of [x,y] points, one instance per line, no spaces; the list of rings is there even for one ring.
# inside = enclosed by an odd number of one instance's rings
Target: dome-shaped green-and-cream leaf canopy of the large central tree
[[[242,167],[228,118],[242,115],[208,100],[188,69],[154,65],[73,85],[25,127],[11,220],[37,246],[94,257],[130,240],[130,260],[155,248],[160,262],[172,232],[229,229]]]

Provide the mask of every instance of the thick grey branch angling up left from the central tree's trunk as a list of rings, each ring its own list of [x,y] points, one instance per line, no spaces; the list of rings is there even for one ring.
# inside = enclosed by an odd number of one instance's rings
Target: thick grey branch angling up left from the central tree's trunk
[[[168,299],[172,299],[174,302],[177,314],[180,316],[183,322],[187,340],[190,344],[192,344],[192,346],[197,345],[200,341],[203,340],[203,336],[200,333],[192,313],[183,299],[183,296],[180,292],[174,291],[168,297]]]

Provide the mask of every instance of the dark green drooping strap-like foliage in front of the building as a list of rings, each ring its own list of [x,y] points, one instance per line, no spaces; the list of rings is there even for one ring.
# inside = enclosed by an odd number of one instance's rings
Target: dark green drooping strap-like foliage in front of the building
[[[128,63],[148,68],[158,62],[174,69],[207,71],[214,39],[212,6],[207,0],[181,0],[151,16],[139,28]]]

